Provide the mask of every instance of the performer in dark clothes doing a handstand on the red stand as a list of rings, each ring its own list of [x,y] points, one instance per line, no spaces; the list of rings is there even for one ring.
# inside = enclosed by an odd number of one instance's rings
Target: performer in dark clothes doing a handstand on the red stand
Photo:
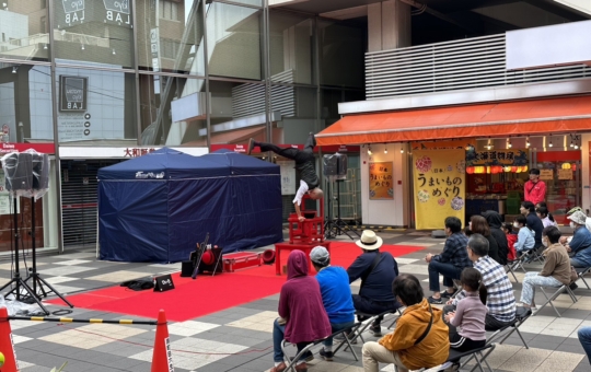
[[[300,210],[300,205],[302,204],[304,194],[308,193],[308,195],[310,195],[310,197],[314,200],[324,196],[324,193],[318,187],[318,176],[316,175],[316,170],[314,167],[315,146],[316,139],[314,138],[313,133],[310,133],[303,150],[293,148],[281,149],[273,143],[256,142],[253,138],[248,140],[248,155],[255,147],[259,147],[262,152],[273,151],[280,156],[296,161],[296,170],[300,174],[300,188],[298,189],[296,198],[293,199],[293,206],[296,207],[296,213],[298,213],[298,220],[300,220],[300,222],[305,220],[305,217],[302,216]]]

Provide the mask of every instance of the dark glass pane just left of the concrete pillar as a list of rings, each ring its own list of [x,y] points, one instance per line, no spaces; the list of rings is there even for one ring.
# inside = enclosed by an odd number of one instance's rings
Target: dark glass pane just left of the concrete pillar
[[[318,21],[321,85],[364,88],[366,28]]]

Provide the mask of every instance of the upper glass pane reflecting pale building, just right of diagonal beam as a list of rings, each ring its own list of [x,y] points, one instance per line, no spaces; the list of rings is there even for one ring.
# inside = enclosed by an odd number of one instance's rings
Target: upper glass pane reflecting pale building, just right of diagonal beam
[[[207,11],[209,74],[262,80],[262,11],[213,2]]]

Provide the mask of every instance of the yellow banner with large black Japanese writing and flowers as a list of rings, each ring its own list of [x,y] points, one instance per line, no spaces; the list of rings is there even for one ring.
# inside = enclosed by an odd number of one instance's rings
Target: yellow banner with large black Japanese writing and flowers
[[[465,155],[464,150],[413,151],[417,230],[443,229],[447,217],[464,224]]]

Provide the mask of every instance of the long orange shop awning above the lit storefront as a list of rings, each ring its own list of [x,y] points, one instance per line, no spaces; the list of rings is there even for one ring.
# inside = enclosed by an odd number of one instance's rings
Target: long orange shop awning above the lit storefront
[[[350,115],[318,146],[508,137],[591,130],[591,96]]]

